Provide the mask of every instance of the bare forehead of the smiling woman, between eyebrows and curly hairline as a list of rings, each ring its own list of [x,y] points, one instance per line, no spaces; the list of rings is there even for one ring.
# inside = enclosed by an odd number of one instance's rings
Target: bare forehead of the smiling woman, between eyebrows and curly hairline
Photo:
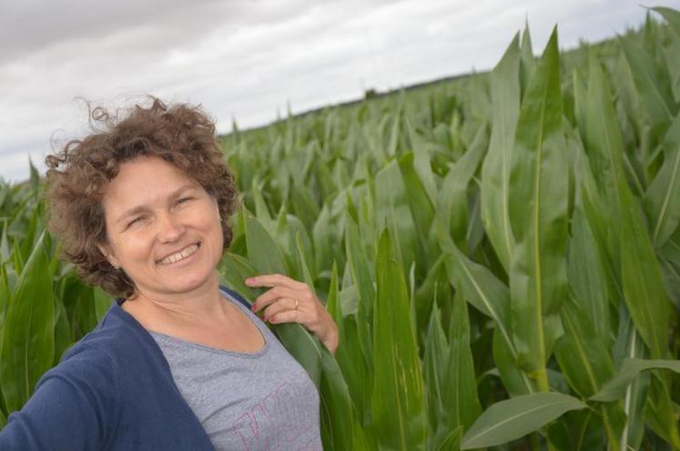
[[[105,210],[154,204],[185,185],[196,186],[178,167],[154,156],[138,156],[120,165],[102,198]],[[113,213],[113,212],[109,212]]]

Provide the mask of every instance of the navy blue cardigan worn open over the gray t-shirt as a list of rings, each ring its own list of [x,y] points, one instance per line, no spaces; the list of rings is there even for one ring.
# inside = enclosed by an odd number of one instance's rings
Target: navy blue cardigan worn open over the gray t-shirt
[[[214,451],[156,341],[119,303],[9,416],[0,450]]]

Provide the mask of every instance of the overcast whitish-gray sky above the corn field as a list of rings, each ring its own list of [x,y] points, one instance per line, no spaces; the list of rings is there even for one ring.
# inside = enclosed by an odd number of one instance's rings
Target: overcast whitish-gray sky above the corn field
[[[534,53],[639,25],[640,0],[0,0],[0,177],[43,170],[86,108],[146,93],[204,105],[227,132],[486,70],[528,18]],[[654,5],[680,9],[680,0]]]

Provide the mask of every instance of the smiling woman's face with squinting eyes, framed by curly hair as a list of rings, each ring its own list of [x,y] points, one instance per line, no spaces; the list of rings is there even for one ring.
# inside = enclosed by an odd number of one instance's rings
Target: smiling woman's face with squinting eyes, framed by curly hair
[[[215,199],[177,167],[140,156],[120,166],[102,200],[109,261],[142,296],[218,283],[223,236]]]

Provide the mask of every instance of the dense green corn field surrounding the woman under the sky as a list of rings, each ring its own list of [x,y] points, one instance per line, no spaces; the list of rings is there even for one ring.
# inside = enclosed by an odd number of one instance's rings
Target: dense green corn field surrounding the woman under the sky
[[[222,281],[288,274],[335,356],[273,326],[328,450],[680,450],[680,13],[489,73],[221,137]],[[0,186],[0,426],[111,300],[60,262],[36,170]]]

